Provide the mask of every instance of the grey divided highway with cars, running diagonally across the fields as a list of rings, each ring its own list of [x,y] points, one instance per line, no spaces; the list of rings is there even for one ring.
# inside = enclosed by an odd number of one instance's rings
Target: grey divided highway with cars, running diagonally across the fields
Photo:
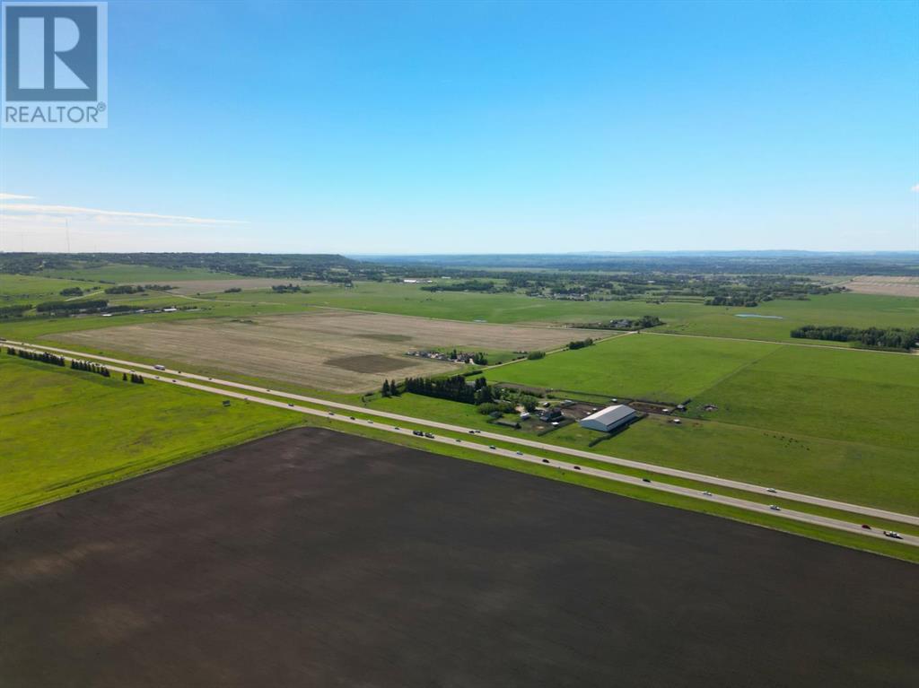
[[[273,389],[255,387],[253,385],[245,385],[238,382],[233,382],[230,380],[222,380],[218,378],[207,378],[205,376],[196,375],[194,373],[179,372],[177,370],[158,370],[153,366],[134,363],[130,361],[125,361],[118,358],[112,358],[102,355],[89,355],[84,352],[70,351],[67,349],[61,349],[53,346],[46,346],[43,344],[28,344],[25,342],[14,342],[6,341],[5,344],[13,346],[23,346],[29,349],[38,350],[38,351],[50,351],[60,355],[66,355],[70,358],[76,358],[78,360],[93,359],[97,361],[104,361],[106,364],[109,364],[108,367],[114,372],[132,372],[144,370],[147,371],[150,375],[153,375],[154,378],[158,378],[163,382],[170,382],[171,384],[180,385],[187,387],[189,389],[199,389],[200,391],[210,392],[212,394],[218,394],[225,398],[247,400],[255,403],[265,404],[267,406],[275,406],[278,408],[287,409],[289,411],[301,412],[306,414],[311,414],[315,416],[322,416],[325,418],[334,417],[336,421],[344,423],[353,423],[361,426],[372,426],[375,429],[391,432],[396,434],[407,434],[412,435],[414,429],[417,427],[423,426],[425,428],[439,428],[442,430],[447,430],[453,433],[463,433],[469,434],[469,428],[464,428],[459,425],[452,425],[449,423],[439,423],[436,421],[429,421],[426,419],[414,418],[412,416],[404,416],[396,413],[389,412],[380,412],[375,410],[369,410],[361,406],[354,406],[350,404],[345,404],[337,401],[329,401],[323,399],[316,399],[312,397],[306,397],[299,394],[293,394],[290,392],[282,392]],[[216,387],[210,387],[206,384],[200,384],[201,382],[212,382],[224,387],[229,387],[233,389],[241,389],[243,391],[233,391],[228,389],[220,389]],[[279,401],[273,399],[266,399],[262,396],[251,396],[251,394],[246,394],[244,392],[250,392],[252,394],[271,394],[272,396],[281,397],[288,400],[299,400],[304,403],[311,403],[313,405],[322,406],[324,409],[315,409],[306,406],[298,406],[294,403],[288,401]],[[338,415],[333,411],[328,411],[327,409],[336,409],[339,411],[345,411],[350,413],[360,413],[364,415],[372,415],[376,418],[386,418],[391,421],[396,421],[398,423],[411,424],[415,427],[401,427],[401,426],[391,426],[389,424],[381,424],[373,420],[366,420],[361,418],[351,418],[350,416]],[[472,435],[471,435],[472,436]],[[589,458],[595,461],[603,461],[609,464],[624,466],[628,468],[639,468],[642,470],[647,470],[652,473],[659,473],[663,475],[674,476],[678,478],[692,479],[698,482],[708,483],[711,486],[723,486],[733,489],[743,490],[743,491],[752,491],[756,493],[764,493],[766,489],[749,483],[743,483],[736,480],[729,479],[720,479],[711,476],[706,476],[698,473],[691,473],[688,471],[682,471],[675,468],[664,468],[661,466],[655,466],[653,464],[641,463],[638,461],[630,461],[629,459],[622,459],[616,457],[607,457],[600,454],[595,454],[593,452],[585,452],[579,449],[571,449],[563,446],[550,445],[542,442],[536,442],[533,440],[527,440],[522,438],[517,438],[513,436],[508,436],[505,434],[495,434],[487,433],[483,431],[476,431],[474,435],[476,438],[488,438],[498,440],[504,443],[516,445],[516,446],[529,446],[532,448],[538,448],[546,451],[553,452],[555,454],[563,454],[571,457],[582,457]],[[550,465],[555,468],[560,468],[562,470],[571,470],[578,471],[585,475],[592,475],[602,479],[615,480],[620,483],[625,483],[645,489],[670,492],[672,494],[679,494],[687,497],[692,497],[694,499],[709,500],[712,502],[719,502],[722,504],[731,505],[737,508],[741,508],[751,512],[757,513],[766,513],[771,516],[786,518],[793,521],[799,521],[801,523],[808,523],[814,525],[822,525],[825,527],[834,528],[835,530],[842,530],[850,533],[857,533],[862,536],[869,537],[881,537],[885,538],[883,532],[878,529],[866,530],[862,528],[859,524],[855,524],[848,521],[842,521],[834,518],[829,518],[826,516],[818,516],[811,513],[797,512],[789,509],[782,510],[773,510],[768,505],[760,502],[750,502],[747,500],[728,497],[719,494],[703,493],[698,489],[686,488],[677,485],[671,485],[661,482],[652,482],[649,479],[635,478],[632,476],[622,475],[621,473],[616,473],[612,471],[602,470],[600,468],[589,468],[584,466],[579,466],[570,461],[560,461],[558,459],[548,459],[543,457],[536,457],[532,455],[524,454],[521,451],[513,451],[511,449],[504,448],[491,448],[491,446],[485,446],[477,442],[470,442],[468,439],[451,439],[448,437],[429,437],[429,441],[437,442],[445,445],[461,445],[475,450],[479,450],[485,453],[494,454],[503,457],[513,458],[519,461],[528,461],[530,463],[537,463],[540,465]],[[835,502],[833,500],[826,500],[820,497],[811,497],[810,495],[802,495],[793,492],[782,491],[778,493],[783,499],[793,500],[798,502],[811,503],[819,506],[832,507],[834,509],[840,509],[849,513],[858,513],[864,516],[874,516],[877,518],[882,518],[890,521],[897,521],[904,524],[919,524],[919,517],[911,516],[908,514],[888,512],[881,509],[875,509],[873,507],[860,506],[857,504],[849,504],[846,502]],[[911,535],[903,535],[902,543],[913,545],[919,547],[919,537]]]

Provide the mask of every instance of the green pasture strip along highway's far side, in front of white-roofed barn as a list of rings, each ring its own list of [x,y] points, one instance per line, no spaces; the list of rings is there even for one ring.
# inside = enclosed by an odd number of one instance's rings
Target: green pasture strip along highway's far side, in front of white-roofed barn
[[[910,449],[715,421],[690,419],[677,426],[653,415],[590,447],[598,434],[576,424],[541,437],[521,435],[512,428],[487,423],[487,417],[473,406],[454,401],[403,394],[373,400],[369,408],[919,514],[919,469]]]

